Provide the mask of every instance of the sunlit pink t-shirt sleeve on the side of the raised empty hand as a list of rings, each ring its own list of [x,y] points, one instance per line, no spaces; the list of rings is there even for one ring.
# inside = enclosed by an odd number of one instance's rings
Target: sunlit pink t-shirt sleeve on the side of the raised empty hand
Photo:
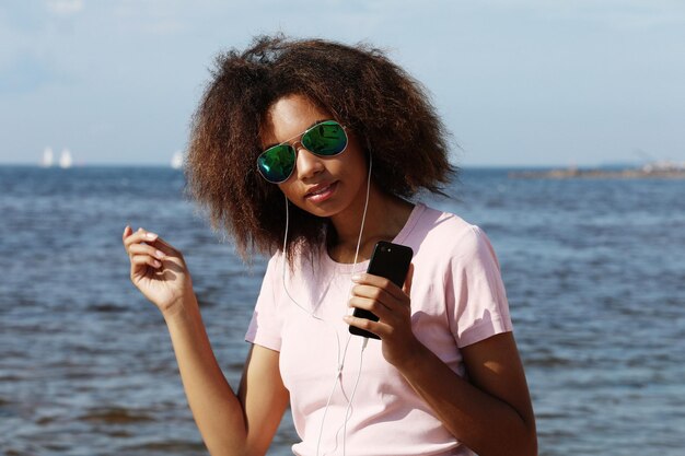
[[[282,318],[278,312],[278,293],[276,292],[281,270],[279,258],[281,258],[279,255],[275,255],[269,260],[257,304],[252,314],[247,334],[245,334],[246,341],[276,351],[280,351],[282,326]]]

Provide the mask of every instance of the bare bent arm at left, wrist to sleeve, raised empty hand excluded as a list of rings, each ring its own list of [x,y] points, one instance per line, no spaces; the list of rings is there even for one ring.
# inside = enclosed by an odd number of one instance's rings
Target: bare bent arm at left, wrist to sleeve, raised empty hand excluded
[[[196,303],[166,317],[183,386],[209,453],[264,455],[288,406],[279,353],[253,346],[237,396],[229,386]]]

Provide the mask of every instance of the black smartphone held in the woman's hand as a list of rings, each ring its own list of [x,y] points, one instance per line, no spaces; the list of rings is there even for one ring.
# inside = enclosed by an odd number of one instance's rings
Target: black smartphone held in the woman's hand
[[[411,247],[380,241],[375,247],[373,247],[373,253],[371,254],[371,260],[369,261],[367,272],[373,276],[390,279],[390,281],[395,283],[397,287],[402,287],[405,283],[405,278],[407,277],[413,255],[414,252],[411,250]],[[379,320],[379,317],[372,312],[361,308],[355,308],[353,315],[356,317],[368,318],[373,321]],[[369,332],[355,326],[350,326],[350,332],[356,336],[380,339],[380,337],[373,332]]]

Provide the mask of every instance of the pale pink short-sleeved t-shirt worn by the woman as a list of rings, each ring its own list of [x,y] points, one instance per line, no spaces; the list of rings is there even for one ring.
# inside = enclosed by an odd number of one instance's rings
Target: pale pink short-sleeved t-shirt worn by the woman
[[[461,347],[512,329],[488,238],[454,214],[417,204],[393,242],[414,249],[416,337],[464,376]],[[321,435],[322,455],[341,455],[342,445],[350,456],[472,455],[385,361],[380,340],[369,339],[362,353],[364,339],[349,336],[342,317],[348,313],[350,277],[367,266],[335,262],[325,249],[313,261],[301,259],[294,269],[286,267],[291,300],[283,289],[282,256],[269,261],[245,339],[280,352],[281,377],[302,439],[293,453],[315,455]],[[339,378],[338,360],[344,365]]]

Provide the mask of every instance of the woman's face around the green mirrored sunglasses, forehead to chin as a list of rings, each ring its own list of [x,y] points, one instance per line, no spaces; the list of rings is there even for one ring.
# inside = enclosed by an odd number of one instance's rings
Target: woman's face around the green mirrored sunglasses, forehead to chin
[[[300,143],[307,128],[328,119],[333,119],[333,115],[307,97],[288,95],[271,105],[262,131],[265,149],[288,140],[297,148],[295,169],[278,186],[293,204],[317,217],[344,215],[346,210],[358,210],[365,197],[367,159],[349,130],[347,149],[339,155],[317,156]]]

